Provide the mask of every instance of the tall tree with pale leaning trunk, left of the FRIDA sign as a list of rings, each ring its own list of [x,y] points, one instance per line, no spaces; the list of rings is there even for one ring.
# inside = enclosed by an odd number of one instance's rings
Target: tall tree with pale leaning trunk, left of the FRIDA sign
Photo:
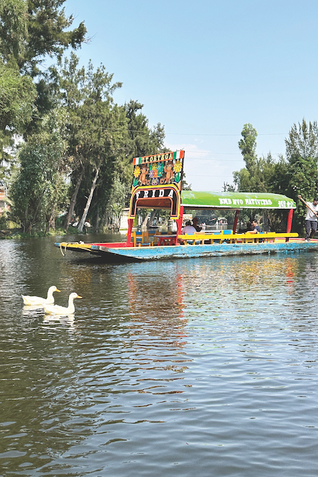
[[[108,74],[103,65],[95,71],[91,62],[87,69],[79,68],[79,59],[74,53],[64,62],[59,61],[51,74],[60,88],[57,91],[59,102],[69,113],[68,152],[74,192],[65,227],[68,227],[73,210],[79,213],[81,209],[84,210],[80,213],[81,230],[100,180],[107,189],[113,169],[110,164],[121,149],[122,135],[126,134],[124,111],[114,105],[112,98],[121,83],[113,83],[113,75]]]

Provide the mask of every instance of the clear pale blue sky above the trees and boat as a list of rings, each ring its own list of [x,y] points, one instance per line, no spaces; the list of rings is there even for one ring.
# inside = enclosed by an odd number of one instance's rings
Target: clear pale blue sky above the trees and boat
[[[91,41],[81,65],[105,65],[119,104],[143,103],[166,147],[185,149],[193,190],[220,191],[244,167],[245,123],[257,154],[285,154],[293,123],[318,119],[317,0],[67,0]],[[151,153],[151,152],[150,152]]]

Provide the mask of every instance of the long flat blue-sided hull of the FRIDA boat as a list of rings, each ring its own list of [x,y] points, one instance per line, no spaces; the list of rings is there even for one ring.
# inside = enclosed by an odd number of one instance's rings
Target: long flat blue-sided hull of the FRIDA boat
[[[215,243],[211,245],[119,247],[112,243],[85,244],[85,250],[74,248],[72,243],[55,243],[61,250],[86,251],[111,262],[176,260],[229,255],[256,255],[272,253],[303,253],[318,251],[318,241],[277,241],[274,243]]]

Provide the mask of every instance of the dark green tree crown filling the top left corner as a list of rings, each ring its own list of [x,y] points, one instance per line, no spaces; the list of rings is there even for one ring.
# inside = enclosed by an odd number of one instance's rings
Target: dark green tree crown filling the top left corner
[[[46,55],[60,57],[65,49],[79,48],[86,40],[84,22],[70,29],[72,15],[65,0],[0,0],[0,53],[13,58],[21,72],[37,76]]]

